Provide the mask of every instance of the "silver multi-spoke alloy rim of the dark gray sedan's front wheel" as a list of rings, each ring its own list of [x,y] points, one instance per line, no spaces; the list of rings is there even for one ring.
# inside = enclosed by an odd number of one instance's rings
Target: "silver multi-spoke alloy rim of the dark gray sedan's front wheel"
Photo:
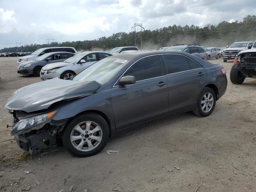
[[[76,125],[71,134],[70,141],[74,148],[87,152],[95,149],[102,140],[101,127],[92,121],[84,121]]]

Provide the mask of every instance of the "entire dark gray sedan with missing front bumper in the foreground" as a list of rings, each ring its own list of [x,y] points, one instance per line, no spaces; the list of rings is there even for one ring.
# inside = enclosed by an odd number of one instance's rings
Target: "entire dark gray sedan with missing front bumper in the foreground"
[[[184,52],[134,52],[102,59],[70,81],[20,88],[5,108],[13,110],[11,134],[23,150],[38,154],[62,140],[68,152],[86,157],[144,122],[188,111],[208,116],[226,88],[218,64]]]

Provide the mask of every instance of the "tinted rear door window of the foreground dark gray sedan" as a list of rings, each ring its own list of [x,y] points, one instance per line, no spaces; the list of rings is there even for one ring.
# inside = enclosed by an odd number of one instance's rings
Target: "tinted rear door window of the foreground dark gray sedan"
[[[188,60],[185,56],[177,54],[164,54],[162,56],[167,69],[166,74],[190,70]]]

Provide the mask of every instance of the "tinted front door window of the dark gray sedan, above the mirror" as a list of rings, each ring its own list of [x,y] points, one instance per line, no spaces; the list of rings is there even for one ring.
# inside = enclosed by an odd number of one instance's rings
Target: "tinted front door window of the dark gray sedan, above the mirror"
[[[162,76],[159,56],[150,56],[137,61],[125,72],[124,76],[128,75],[134,76],[136,82]]]

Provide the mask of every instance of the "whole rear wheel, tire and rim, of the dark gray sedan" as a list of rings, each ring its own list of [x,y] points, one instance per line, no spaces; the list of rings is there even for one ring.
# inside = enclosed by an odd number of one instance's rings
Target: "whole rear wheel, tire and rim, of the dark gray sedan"
[[[196,110],[193,113],[202,117],[209,116],[213,112],[215,104],[215,92],[211,88],[205,87],[198,97]]]

